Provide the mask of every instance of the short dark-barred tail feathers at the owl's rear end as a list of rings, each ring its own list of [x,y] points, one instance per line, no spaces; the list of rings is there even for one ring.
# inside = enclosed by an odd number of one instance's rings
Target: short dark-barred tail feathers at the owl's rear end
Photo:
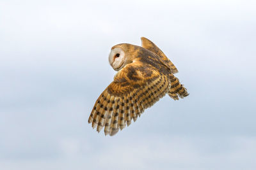
[[[176,100],[179,100],[179,97],[182,99],[186,96],[189,96],[189,93],[187,89],[180,84],[180,81],[177,77],[175,77],[173,74],[170,75],[170,81],[171,81],[171,88],[168,92],[168,95]]]

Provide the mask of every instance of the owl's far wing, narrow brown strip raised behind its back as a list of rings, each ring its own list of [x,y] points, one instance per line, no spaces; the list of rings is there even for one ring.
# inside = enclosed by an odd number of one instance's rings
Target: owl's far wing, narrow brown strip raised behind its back
[[[151,52],[156,53],[159,56],[161,62],[170,68],[173,74],[178,73],[178,69],[174,66],[174,64],[164,55],[164,53],[149,39],[145,37],[141,37],[142,47],[150,50]]]

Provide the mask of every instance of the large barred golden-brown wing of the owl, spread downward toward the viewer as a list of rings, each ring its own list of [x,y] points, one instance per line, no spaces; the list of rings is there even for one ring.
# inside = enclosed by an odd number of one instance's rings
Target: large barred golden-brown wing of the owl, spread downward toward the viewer
[[[98,132],[104,127],[105,135],[113,136],[163,97],[170,89],[168,81],[165,74],[150,65],[138,61],[127,64],[100,94],[89,124]]]

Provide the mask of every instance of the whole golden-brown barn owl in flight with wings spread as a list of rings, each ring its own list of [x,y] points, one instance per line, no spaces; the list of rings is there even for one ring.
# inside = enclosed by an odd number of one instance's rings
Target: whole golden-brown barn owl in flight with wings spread
[[[88,120],[98,132],[104,127],[105,135],[115,135],[166,94],[174,100],[189,95],[173,75],[178,70],[166,55],[147,38],[142,37],[141,43],[111,48],[109,64],[118,72],[100,94]]]

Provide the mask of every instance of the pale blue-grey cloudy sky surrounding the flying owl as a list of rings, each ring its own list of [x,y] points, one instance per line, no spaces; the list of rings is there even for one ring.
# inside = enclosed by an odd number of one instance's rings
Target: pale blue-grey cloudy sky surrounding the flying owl
[[[0,169],[256,169],[255,1],[0,1]],[[145,36],[179,69],[116,136],[88,125],[111,46]]]

